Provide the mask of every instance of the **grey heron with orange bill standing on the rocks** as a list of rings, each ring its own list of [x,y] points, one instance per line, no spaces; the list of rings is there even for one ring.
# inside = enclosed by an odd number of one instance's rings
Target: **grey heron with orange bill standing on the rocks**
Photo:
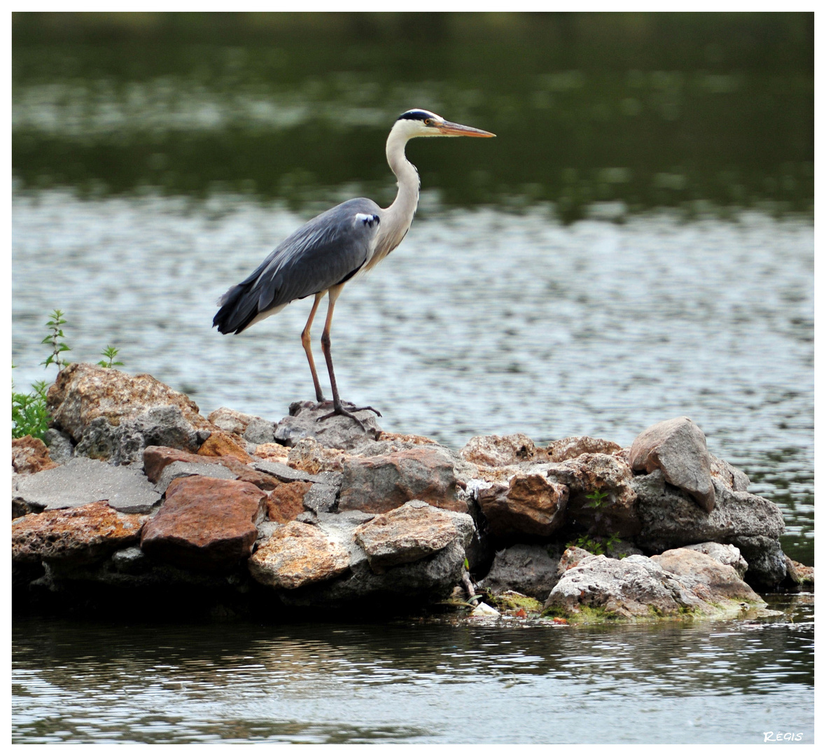
[[[401,243],[413,222],[419,203],[419,174],[406,159],[405,145],[415,136],[496,136],[490,131],[445,121],[426,110],[409,110],[396,119],[387,137],[387,163],[398,179],[396,200],[390,207],[378,207],[371,199],[358,197],[322,212],[287,236],[244,280],[218,300],[221,307],[212,321],[220,333],[239,334],[265,317],[275,315],[295,299],[316,297],[306,326],[301,331],[312,382],[319,406],[325,404],[310,346],[310,328],[319,302],[325,294],[330,303],[321,334],[321,350],[330,373],[334,415],[352,417],[353,412],[373,407],[355,407],[341,402],[330,354],[330,324],[333,309],[344,284],[359,271],[367,271],[382,261]],[[344,408],[346,403],[348,409]],[[329,405],[328,405],[329,406]]]

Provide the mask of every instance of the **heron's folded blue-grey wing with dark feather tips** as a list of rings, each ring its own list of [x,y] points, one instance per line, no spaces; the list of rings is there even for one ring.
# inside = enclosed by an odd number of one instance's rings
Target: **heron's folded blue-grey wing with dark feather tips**
[[[240,333],[263,312],[352,277],[370,255],[380,212],[373,200],[358,197],[308,221],[221,297],[212,325]]]

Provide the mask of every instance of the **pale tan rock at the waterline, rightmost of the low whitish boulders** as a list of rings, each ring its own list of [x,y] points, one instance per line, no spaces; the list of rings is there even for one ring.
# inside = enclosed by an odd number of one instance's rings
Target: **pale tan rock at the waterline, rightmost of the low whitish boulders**
[[[762,599],[743,582],[730,564],[714,559],[710,554],[693,549],[670,549],[651,558],[668,573],[678,576],[682,585],[708,603],[724,599],[744,599],[759,603]]]

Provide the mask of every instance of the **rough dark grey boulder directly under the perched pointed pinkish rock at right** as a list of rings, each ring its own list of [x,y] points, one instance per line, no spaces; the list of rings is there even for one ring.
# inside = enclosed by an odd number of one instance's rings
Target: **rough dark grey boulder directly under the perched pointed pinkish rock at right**
[[[776,504],[743,491],[731,491],[719,478],[714,482],[714,511],[705,512],[682,492],[666,483],[662,470],[639,475],[631,485],[638,494],[638,514],[642,529],[635,539],[649,552],[715,541],[734,544],[749,565],[752,558],[738,538],[762,535],[776,540],[783,533],[783,515]]]

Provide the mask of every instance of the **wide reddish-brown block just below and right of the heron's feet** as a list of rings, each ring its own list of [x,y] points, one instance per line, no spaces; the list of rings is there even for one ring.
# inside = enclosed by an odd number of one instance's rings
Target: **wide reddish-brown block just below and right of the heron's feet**
[[[377,457],[347,457],[339,510],[382,514],[418,500],[440,509],[467,511],[456,492],[457,478],[450,455],[439,447],[414,449]]]

